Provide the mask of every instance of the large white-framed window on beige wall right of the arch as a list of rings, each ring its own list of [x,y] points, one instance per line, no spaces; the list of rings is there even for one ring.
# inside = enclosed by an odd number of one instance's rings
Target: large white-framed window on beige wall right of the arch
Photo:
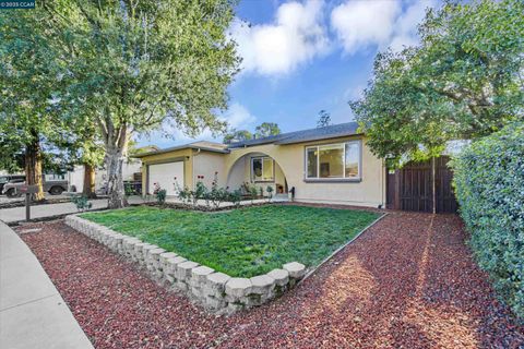
[[[307,179],[360,179],[360,141],[306,147]]]

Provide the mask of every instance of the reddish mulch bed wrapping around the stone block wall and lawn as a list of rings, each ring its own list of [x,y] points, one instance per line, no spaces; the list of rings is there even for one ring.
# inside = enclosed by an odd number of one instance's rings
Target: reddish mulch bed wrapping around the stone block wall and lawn
[[[393,213],[278,300],[206,314],[61,221],[22,234],[96,348],[520,348],[452,215]],[[17,228],[19,230],[26,227]]]

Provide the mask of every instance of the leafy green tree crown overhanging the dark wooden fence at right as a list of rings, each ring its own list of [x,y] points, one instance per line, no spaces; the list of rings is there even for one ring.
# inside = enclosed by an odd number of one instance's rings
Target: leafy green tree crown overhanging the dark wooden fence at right
[[[451,140],[490,134],[524,112],[524,2],[446,2],[429,10],[420,45],[377,56],[350,103],[380,157],[427,159]]]

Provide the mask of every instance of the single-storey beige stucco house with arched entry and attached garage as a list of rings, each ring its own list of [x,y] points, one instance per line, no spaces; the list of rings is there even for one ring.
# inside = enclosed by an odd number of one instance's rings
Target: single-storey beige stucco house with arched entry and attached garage
[[[293,192],[298,202],[385,206],[385,167],[371,154],[355,122],[329,125],[229,145],[194,142],[138,155],[142,188],[154,184],[176,195],[177,189],[209,186],[215,176],[221,186],[238,189],[248,182]]]

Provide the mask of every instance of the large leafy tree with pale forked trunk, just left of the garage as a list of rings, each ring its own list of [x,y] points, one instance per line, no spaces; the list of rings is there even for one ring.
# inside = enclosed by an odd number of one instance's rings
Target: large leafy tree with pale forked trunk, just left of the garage
[[[88,115],[104,143],[109,207],[126,204],[121,171],[133,133],[171,129],[166,124],[189,135],[224,130],[216,115],[227,107],[226,88],[239,63],[226,35],[234,5],[229,0],[41,2],[48,39],[60,43],[74,80],[60,96],[67,117],[75,110]]]

